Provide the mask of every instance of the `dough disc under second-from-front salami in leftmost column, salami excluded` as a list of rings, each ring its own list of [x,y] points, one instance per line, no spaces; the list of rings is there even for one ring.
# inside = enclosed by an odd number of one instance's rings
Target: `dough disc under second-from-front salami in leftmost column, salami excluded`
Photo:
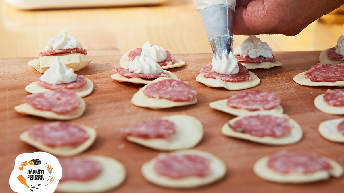
[[[81,152],[85,151],[87,148],[89,148],[89,146],[91,146],[94,142],[94,140],[96,139],[96,130],[92,127],[87,127],[87,126],[80,126],[81,128],[85,129],[87,134],[90,136],[84,143],[76,146],[76,147],[72,147],[72,146],[63,146],[63,147],[49,147],[39,141],[36,141],[34,139],[32,139],[29,136],[29,132],[25,131],[22,134],[20,134],[19,139],[21,141],[24,141],[25,143],[28,143],[30,145],[32,145],[33,147],[48,152],[52,155],[55,156],[74,156],[77,154],[80,154]]]

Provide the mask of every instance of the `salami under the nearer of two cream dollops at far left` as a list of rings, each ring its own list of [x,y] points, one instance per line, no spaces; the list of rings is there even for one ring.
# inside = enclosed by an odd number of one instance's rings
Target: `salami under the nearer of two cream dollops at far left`
[[[86,85],[87,80],[83,75],[76,75],[76,80],[71,83],[62,83],[62,84],[48,84],[41,81],[39,78],[36,79],[36,84],[40,87],[56,90],[56,89],[79,89]]]

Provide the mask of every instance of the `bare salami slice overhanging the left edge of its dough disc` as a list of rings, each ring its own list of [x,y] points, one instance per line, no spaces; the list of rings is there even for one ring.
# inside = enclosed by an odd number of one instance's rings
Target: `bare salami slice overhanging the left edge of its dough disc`
[[[121,134],[141,138],[169,138],[175,134],[175,124],[168,120],[153,120],[121,128]]]

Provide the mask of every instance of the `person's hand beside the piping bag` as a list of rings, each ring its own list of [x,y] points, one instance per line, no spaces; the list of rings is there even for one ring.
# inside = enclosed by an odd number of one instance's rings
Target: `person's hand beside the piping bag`
[[[344,0],[237,0],[234,34],[293,36]]]

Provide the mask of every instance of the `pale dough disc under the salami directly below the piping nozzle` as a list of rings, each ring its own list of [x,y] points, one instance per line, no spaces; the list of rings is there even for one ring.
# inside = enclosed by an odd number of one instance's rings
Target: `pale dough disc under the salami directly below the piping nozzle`
[[[213,78],[206,78],[199,74],[196,77],[197,82],[205,84],[207,87],[223,87],[228,90],[244,90],[257,86],[260,83],[259,78],[255,73],[250,72],[251,80],[246,80],[243,82],[226,82],[223,80],[217,80]]]

